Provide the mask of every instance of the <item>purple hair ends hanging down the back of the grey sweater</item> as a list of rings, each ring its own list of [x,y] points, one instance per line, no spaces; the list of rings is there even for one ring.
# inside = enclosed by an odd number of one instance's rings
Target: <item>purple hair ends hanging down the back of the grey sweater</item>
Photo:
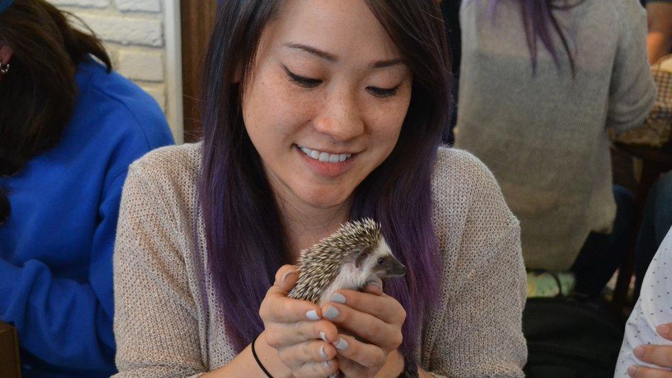
[[[494,19],[497,5],[502,0],[493,0],[491,5],[491,13]],[[569,49],[567,37],[563,30],[560,29],[558,20],[553,14],[554,10],[569,10],[575,6],[580,5],[585,0],[576,0],[571,2],[569,0],[516,0],[521,6],[521,17],[523,18],[523,28],[525,28],[525,37],[527,39],[527,48],[529,49],[529,58],[532,60],[532,70],[536,72],[537,63],[537,39],[540,39],[544,48],[551,54],[556,67],[560,68],[560,59],[556,46],[553,41],[553,33],[555,32],[560,37],[560,43],[563,44],[567,56],[569,56],[569,67],[571,73],[574,74],[576,67],[574,66],[574,54]]]

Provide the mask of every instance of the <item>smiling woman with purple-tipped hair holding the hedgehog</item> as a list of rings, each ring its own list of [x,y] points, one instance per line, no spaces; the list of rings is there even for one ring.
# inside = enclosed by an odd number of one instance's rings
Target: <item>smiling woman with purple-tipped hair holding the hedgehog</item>
[[[120,377],[522,376],[518,224],[478,160],[437,149],[446,49],[433,0],[222,3],[202,143],[125,183]],[[299,251],[364,217],[406,277],[288,299]]]

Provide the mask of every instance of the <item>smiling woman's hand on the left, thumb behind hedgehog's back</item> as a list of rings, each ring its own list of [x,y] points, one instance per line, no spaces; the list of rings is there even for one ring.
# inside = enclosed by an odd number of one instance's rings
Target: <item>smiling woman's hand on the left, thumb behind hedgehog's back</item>
[[[337,341],[338,331],[322,319],[319,306],[287,297],[297,280],[297,266],[285,265],[275,273],[275,284],[259,309],[264,322],[260,338],[277,350],[294,377],[326,377],[339,368],[331,344]]]

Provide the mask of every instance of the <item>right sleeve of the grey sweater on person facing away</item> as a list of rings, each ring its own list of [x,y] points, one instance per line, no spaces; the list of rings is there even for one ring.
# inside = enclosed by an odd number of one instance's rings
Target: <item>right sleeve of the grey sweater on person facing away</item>
[[[615,4],[620,38],[609,87],[607,127],[624,132],[642,125],[655,102],[655,84],[647,61],[647,15],[636,1]]]

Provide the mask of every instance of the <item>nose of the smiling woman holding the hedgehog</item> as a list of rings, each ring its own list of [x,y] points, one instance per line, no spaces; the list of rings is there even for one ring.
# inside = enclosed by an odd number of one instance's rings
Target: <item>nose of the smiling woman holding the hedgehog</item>
[[[313,122],[317,132],[330,136],[335,142],[364,134],[364,120],[353,91],[340,90],[327,96],[322,112]]]

